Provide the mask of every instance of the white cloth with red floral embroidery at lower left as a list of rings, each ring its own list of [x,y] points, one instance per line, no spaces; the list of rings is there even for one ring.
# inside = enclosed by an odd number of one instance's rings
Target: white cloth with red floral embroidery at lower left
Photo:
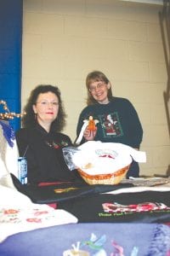
[[[77,223],[70,212],[34,204],[17,190],[0,186],[0,195],[0,241],[19,232]]]

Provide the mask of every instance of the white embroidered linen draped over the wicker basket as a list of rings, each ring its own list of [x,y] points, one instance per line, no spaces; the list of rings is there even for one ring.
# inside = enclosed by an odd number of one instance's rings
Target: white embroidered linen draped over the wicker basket
[[[65,148],[69,151],[70,148]],[[145,162],[145,152],[135,150],[122,143],[83,143],[71,155],[75,167],[88,174],[113,173],[131,164],[132,160]],[[64,154],[65,154],[64,151]],[[70,155],[67,155],[68,157]],[[68,162],[68,161],[67,161]]]

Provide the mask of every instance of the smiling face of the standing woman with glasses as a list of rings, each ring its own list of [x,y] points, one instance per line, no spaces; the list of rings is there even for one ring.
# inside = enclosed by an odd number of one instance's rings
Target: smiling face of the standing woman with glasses
[[[100,104],[107,104],[109,102],[107,95],[110,88],[111,84],[106,84],[104,81],[94,81],[89,85],[91,95]]]

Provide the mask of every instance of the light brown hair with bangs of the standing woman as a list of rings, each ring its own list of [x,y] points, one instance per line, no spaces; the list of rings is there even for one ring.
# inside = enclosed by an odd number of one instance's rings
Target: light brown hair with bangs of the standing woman
[[[105,84],[109,84],[109,83],[111,84],[110,80],[107,79],[107,77],[105,76],[105,73],[102,73],[98,70],[94,70],[93,72],[88,73],[88,76],[86,78],[86,87],[88,89],[88,98],[87,98],[88,105],[97,103],[97,101],[94,99],[94,97],[89,91],[90,84],[96,81],[102,81],[102,82],[105,82]],[[112,91],[110,88],[108,90],[108,99],[111,100],[111,98],[112,98]]]

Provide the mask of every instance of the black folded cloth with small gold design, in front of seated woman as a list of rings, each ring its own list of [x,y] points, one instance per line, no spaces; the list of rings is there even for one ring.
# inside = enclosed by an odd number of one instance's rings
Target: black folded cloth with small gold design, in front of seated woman
[[[12,175],[14,185],[21,193],[27,195],[32,202],[51,204],[59,201],[71,201],[115,189],[129,188],[133,184],[123,183],[117,185],[88,185],[87,183],[63,182],[41,183],[38,185],[23,185],[18,178]]]

